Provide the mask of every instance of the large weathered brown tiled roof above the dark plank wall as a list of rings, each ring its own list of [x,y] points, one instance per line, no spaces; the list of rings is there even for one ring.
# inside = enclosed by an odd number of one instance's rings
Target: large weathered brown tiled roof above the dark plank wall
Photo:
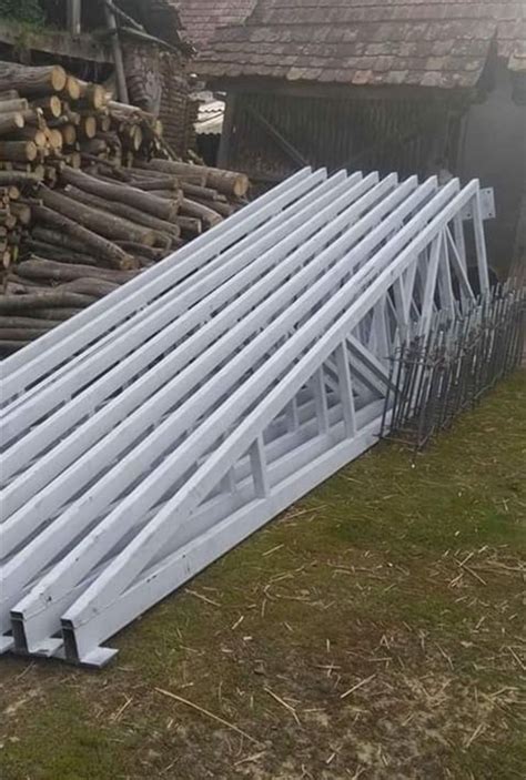
[[[259,0],[200,59],[208,78],[474,87],[492,43],[526,70],[526,2]]]

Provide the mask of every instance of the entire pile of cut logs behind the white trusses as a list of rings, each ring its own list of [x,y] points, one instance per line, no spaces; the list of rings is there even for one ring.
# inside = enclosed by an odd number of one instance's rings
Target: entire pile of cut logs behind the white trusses
[[[166,156],[160,123],[102,87],[0,63],[0,357],[245,202],[244,174]]]

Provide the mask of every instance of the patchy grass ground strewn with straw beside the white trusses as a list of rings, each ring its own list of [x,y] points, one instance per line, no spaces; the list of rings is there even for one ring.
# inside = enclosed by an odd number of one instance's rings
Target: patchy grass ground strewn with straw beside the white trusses
[[[2,658],[2,780],[524,780],[525,379],[351,464],[107,669]]]

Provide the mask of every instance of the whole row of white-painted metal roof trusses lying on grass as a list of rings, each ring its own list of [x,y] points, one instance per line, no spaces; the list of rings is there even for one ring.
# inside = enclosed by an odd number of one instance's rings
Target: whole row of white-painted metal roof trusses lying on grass
[[[0,648],[105,663],[371,447],[393,350],[474,297],[466,241],[484,291],[476,181],[304,170],[6,359]]]

